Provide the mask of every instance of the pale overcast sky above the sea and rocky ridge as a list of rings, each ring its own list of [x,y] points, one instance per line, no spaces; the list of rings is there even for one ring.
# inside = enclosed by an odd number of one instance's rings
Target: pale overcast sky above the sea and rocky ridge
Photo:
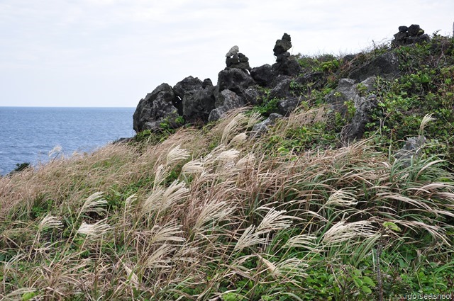
[[[389,43],[399,25],[453,35],[454,1],[0,0],[0,106],[135,107],[192,75],[214,84],[233,45],[251,67]]]

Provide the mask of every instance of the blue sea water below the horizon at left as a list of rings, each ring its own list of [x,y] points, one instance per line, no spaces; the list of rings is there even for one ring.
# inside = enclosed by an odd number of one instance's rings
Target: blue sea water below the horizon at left
[[[68,157],[74,151],[92,152],[118,138],[132,137],[134,110],[0,107],[0,174],[23,162],[44,163],[54,147],[61,147]]]

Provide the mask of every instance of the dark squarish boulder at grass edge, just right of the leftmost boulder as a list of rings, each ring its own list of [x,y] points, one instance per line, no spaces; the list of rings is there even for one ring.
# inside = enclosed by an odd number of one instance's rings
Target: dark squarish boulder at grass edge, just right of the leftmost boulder
[[[214,86],[206,89],[192,90],[183,97],[183,117],[189,123],[202,121],[206,123],[211,110],[214,110]]]

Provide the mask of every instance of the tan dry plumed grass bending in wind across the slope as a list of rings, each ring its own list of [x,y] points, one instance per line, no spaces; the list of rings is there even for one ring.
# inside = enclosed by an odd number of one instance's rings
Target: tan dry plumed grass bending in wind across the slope
[[[287,284],[299,288],[317,254],[354,266],[379,243],[424,233],[433,237],[426,249],[450,247],[444,219],[454,216],[454,187],[440,162],[403,168],[368,141],[279,154],[260,147],[267,135],[245,139],[258,116],[244,113],[209,132],[109,145],[0,178],[0,300],[31,292],[36,300],[221,300],[219,289],[239,279],[275,283],[277,296]],[[294,115],[277,129],[322,115]],[[350,256],[358,248],[364,256]]]

